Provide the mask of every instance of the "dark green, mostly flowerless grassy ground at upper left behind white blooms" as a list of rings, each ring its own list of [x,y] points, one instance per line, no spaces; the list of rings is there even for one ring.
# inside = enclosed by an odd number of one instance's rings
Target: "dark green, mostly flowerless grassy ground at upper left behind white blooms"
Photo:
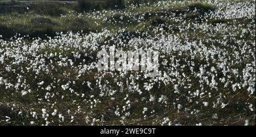
[[[56,32],[96,31],[91,20],[82,18],[60,19],[71,11],[77,13],[92,10],[124,9],[127,5],[139,5],[160,0],[78,0],[78,1],[3,1],[0,0],[0,35],[11,38],[15,34],[30,38],[55,36]],[[25,16],[27,15],[27,16]],[[31,18],[31,16],[36,16]],[[2,17],[2,18],[1,18]]]

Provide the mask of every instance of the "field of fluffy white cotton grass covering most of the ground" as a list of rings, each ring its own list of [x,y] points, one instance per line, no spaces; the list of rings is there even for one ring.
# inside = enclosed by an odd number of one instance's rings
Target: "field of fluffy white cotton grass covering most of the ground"
[[[69,3],[0,14],[0,125],[255,125],[255,1]],[[113,45],[159,76],[98,71]]]

